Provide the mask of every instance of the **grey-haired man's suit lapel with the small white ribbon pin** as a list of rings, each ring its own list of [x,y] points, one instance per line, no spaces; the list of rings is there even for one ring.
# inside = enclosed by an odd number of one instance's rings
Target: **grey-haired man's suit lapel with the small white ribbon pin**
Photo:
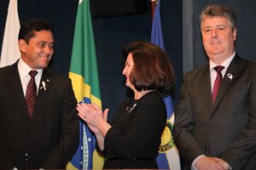
[[[216,109],[221,99],[224,98],[224,94],[228,91],[230,86],[239,79],[242,71],[246,68],[246,65],[246,60],[241,59],[236,54],[235,58],[231,61],[230,66],[224,75],[221,87],[218,90],[218,95],[214,103],[213,111]]]

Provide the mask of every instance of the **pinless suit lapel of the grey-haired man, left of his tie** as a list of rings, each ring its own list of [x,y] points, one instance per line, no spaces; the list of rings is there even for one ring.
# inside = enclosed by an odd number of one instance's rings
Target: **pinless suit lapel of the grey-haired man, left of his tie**
[[[201,90],[209,111],[212,111],[212,91],[209,65],[201,71]]]

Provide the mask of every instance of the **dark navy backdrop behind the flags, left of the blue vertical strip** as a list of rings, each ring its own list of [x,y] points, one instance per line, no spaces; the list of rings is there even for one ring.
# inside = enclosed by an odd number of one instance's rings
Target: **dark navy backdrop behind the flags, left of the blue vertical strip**
[[[31,18],[44,18],[55,25],[55,55],[50,66],[64,75],[69,71],[73,46],[73,31],[78,8],[78,0],[18,0],[20,23]],[[150,41],[151,19],[150,0],[148,13],[117,15],[94,18],[92,20],[96,41],[99,79],[103,109],[109,108],[109,116],[127,97],[125,77],[122,76],[122,57],[120,50],[129,42]],[[166,53],[170,56],[176,72],[176,91],[174,102],[182,79],[182,1],[162,0],[161,14]],[[9,0],[0,0],[0,47]],[[115,5],[115,4],[112,4]],[[106,7],[108,8],[108,7]],[[118,6],[116,8],[119,8]],[[93,14],[93,8],[91,13]],[[1,90],[1,89],[0,89]]]

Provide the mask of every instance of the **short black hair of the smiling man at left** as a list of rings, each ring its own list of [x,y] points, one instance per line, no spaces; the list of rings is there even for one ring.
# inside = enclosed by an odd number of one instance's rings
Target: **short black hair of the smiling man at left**
[[[44,19],[26,20],[20,26],[19,40],[23,39],[29,43],[30,38],[35,37],[35,31],[51,31],[53,33],[53,25]]]

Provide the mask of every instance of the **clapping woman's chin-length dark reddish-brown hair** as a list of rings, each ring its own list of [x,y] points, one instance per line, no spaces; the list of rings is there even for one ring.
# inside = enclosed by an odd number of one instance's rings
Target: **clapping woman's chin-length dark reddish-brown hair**
[[[123,48],[125,59],[132,55],[134,62],[130,81],[138,92],[157,90],[171,93],[174,87],[174,71],[170,59],[158,46],[150,42],[132,42]]]

